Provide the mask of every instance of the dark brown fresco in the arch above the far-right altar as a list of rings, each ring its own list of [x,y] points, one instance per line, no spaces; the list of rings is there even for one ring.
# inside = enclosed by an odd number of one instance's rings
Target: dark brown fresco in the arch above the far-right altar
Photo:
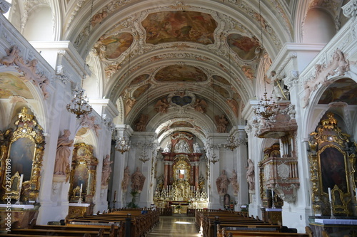
[[[337,80],[321,95],[319,104],[329,104],[331,102],[346,102],[348,105],[357,105],[357,83],[348,78]]]

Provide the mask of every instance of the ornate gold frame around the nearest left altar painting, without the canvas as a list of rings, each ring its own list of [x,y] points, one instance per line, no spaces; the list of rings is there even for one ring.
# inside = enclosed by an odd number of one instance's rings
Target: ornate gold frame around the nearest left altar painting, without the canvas
[[[26,138],[34,143],[34,154],[31,154],[31,175],[29,179],[24,178],[22,182],[20,201],[36,201],[39,195],[40,189],[40,176],[42,159],[44,157],[44,145],[46,144],[43,129],[37,123],[34,115],[28,113],[28,109],[23,107],[21,112],[17,115],[17,120],[14,122],[15,130],[9,129],[5,132],[5,139],[7,140],[1,144],[1,174],[5,174],[6,170],[6,160],[11,158],[11,146],[14,142],[19,141],[19,139]],[[26,150],[26,149],[24,149]],[[27,151],[27,150],[26,150]],[[13,175],[13,177],[16,174]],[[20,173],[18,174],[20,175]],[[6,199],[8,195],[5,195],[6,191],[6,179],[5,175],[1,175],[1,185],[3,189],[1,190],[1,199]],[[11,181],[13,181],[11,177]],[[18,191],[11,191],[11,199],[19,199],[19,189]]]

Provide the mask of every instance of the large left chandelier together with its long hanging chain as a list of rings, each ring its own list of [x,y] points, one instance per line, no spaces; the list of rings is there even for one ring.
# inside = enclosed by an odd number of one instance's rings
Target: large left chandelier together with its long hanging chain
[[[89,17],[88,36],[86,39],[86,52],[84,53],[84,56],[86,56],[88,53],[89,33],[90,33],[90,28],[91,28],[92,14],[93,14],[93,0],[91,1],[91,15]],[[74,98],[66,106],[68,112],[71,112],[74,115],[76,115],[76,118],[80,118],[82,115],[89,115],[91,113],[91,111],[93,110],[91,105],[89,105],[87,96],[84,95],[84,90],[83,90],[84,78],[86,78],[86,58],[84,58],[84,68],[83,68],[83,75],[81,78],[81,88],[79,88],[79,89],[76,88],[74,90]]]

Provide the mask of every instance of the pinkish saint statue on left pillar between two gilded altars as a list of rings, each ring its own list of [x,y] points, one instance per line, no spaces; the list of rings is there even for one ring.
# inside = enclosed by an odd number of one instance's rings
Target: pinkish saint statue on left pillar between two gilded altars
[[[64,130],[64,135],[59,137],[57,141],[56,162],[54,164],[54,174],[66,175],[69,172],[69,156],[71,155],[71,147],[74,140],[69,139],[71,132]]]

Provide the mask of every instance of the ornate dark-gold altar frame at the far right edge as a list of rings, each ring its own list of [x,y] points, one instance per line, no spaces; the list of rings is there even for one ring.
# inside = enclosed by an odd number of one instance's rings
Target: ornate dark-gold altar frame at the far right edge
[[[355,153],[345,152],[349,146],[356,146],[349,142],[349,135],[341,132],[341,128],[337,126],[337,120],[333,117],[333,113],[327,113],[328,119],[322,120],[321,125],[316,129],[316,132],[311,132],[308,150],[308,159],[310,162],[311,172],[311,200],[313,203],[313,211],[318,215],[331,215],[330,202],[327,192],[327,187],[331,189],[333,214],[343,214],[351,216],[353,191],[356,189],[355,184]],[[328,150],[327,150],[328,149]],[[351,149],[353,150],[353,149]],[[323,154],[323,152],[330,152]],[[335,152],[336,154],[331,154]],[[328,156],[331,154],[331,156]],[[323,162],[321,160],[323,159]],[[333,176],[333,167],[341,168],[343,159],[344,169],[338,170],[335,173],[341,174],[345,172],[346,177],[339,176],[339,179],[346,179],[346,186],[344,183],[336,184],[336,181],[331,180]],[[340,162],[337,164],[331,164],[331,162]],[[324,167],[328,165],[329,167]],[[328,170],[323,171],[323,170]],[[326,172],[323,177],[323,172]],[[326,178],[327,177],[327,178]],[[325,185],[325,186],[324,186]],[[340,187],[339,187],[340,186]],[[343,188],[341,188],[343,186]],[[345,189],[343,191],[343,189]]]

